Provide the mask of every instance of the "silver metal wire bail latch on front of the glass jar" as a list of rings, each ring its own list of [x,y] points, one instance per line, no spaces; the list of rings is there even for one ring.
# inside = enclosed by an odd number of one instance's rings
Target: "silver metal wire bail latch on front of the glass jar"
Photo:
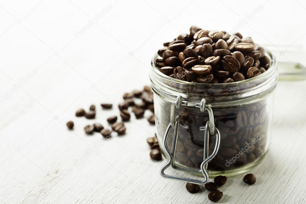
[[[193,103],[193,104],[188,104],[187,100],[183,100],[184,98],[181,96],[177,96],[176,101],[172,103],[171,105],[171,116],[170,116],[170,123],[166,129],[165,135],[164,135],[164,140],[163,140],[163,147],[166,150],[166,154],[169,158],[169,161],[166,165],[164,165],[160,169],[160,175],[164,178],[167,179],[173,179],[173,180],[180,180],[180,181],[185,181],[188,183],[193,183],[193,184],[206,184],[208,182],[208,174],[206,172],[207,169],[207,164],[209,161],[211,161],[218,152],[219,145],[220,145],[220,132],[218,129],[215,127],[214,123],[214,114],[210,106],[206,104],[205,98],[201,100],[201,103]],[[183,166],[177,166],[175,164],[174,158],[175,158],[175,153],[176,153],[176,145],[177,145],[177,136],[178,136],[178,128],[179,125],[181,125],[183,128],[188,129],[189,126],[183,122],[180,121],[180,116],[177,115],[175,116],[175,109],[180,109],[181,107],[196,107],[200,108],[201,112],[204,112],[207,110],[208,115],[209,115],[209,120],[207,121],[205,127],[200,127],[200,131],[204,131],[204,155],[203,155],[203,161],[200,165],[200,169],[195,169],[195,168],[188,168],[188,167],[183,167]],[[172,141],[172,148],[171,152],[167,146],[167,141],[169,137],[169,133],[171,131],[171,128],[174,128],[174,133],[173,133],[173,141]],[[216,143],[215,143],[215,148],[210,156],[208,156],[208,139],[210,135],[216,135]],[[196,179],[189,179],[185,177],[180,177],[180,176],[172,176],[165,174],[164,171],[169,167],[172,166],[172,168],[180,170],[180,171],[185,171],[185,172],[194,172],[194,173],[202,173],[204,176],[204,180],[196,180]]]

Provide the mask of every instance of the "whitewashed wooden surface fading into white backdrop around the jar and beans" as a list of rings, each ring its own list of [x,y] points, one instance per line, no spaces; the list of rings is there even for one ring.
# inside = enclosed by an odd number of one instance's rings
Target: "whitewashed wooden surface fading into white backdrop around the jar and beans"
[[[105,15],[76,37],[103,9]],[[146,138],[155,127],[145,118],[132,117],[125,136],[106,141],[76,167],[102,139],[85,135],[83,127],[94,121],[107,127],[123,93],[149,84],[150,60],[162,43],[192,24],[239,28],[271,47],[279,61],[305,63],[304,55],[290,54],[305,50],[305,13],[301,0],[1,1],[0,203],[210,202],[205,190],[191,195],[184,184],[159,176],[165,160],[149,158]],[[252,170],[257,183],[229,178],[222,202],[305,202],[304,98],[305,82],[278,83],[271,150]],[[102,111],[101,102],[115,108]],[[76,109],[91,104],[95,120],[75,118]],[[65,127],[69,120],[73,131]]]

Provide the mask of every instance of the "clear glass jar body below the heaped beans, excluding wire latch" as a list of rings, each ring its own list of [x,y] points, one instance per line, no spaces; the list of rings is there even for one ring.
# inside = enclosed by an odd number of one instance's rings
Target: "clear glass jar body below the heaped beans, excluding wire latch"
[[[270,121],[272,118],[273,95],[278,79],[275,57],[269,52],[270,68],[251,79],[233,83],[191,83],[164,75],[151,62],[151,88],[154,92],[155,124],[157,137],[162,147],[164,134],[170,123],[171,104],[177,96],[190,103],[200,103],[202,98],[213,110],[215,127],[220,132],[220,146],[217,155],[208,163],[210,176],[233,176],[248,171],[257,165],[270,144]],[[188,125],[179,125],[175,164],[200,169],[204,153],[204,132],[200,127],[209,120],[207,111],[199,108],[182,107],[175,115]],[[173,128],[167,146],[171,151]],[[208,140],[208,155],[215,148],[215,136]],[[165,150],[161,148],[164,155]]]

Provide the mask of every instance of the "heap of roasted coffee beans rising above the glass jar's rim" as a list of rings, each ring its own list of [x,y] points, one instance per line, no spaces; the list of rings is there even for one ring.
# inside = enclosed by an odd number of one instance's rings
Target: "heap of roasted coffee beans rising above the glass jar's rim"
[[[172,78],[194,83],[231,83],[256,77],[271,65],[261,46],[239,32],[203,30],[195,25],[163,43],[155,66]]]

